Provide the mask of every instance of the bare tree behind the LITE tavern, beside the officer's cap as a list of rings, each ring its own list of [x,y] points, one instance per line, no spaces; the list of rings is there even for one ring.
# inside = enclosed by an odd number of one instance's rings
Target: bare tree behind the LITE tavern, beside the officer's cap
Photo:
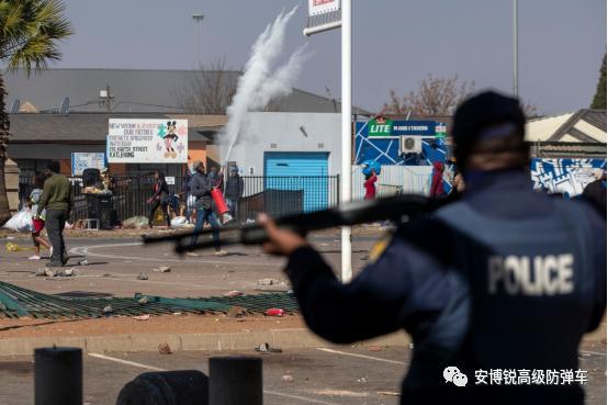
[[[417,90],[404,97],[391,90],[391,101],[384,104],[385,114],[412,114],[420,116],[452,115],[458,104],[475,90],[475,82],[459,82],[458,76],[438,78],[427,76]]]

